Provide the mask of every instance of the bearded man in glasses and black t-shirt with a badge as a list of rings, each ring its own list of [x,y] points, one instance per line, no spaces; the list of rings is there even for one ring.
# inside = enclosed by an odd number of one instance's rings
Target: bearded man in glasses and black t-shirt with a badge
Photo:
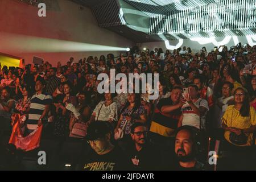
[[[156,170],[160,167],[159,151],[147,139],[147,127],[140,122],[131,126],[134,145],[129,148],[128,156],[135,170]]]

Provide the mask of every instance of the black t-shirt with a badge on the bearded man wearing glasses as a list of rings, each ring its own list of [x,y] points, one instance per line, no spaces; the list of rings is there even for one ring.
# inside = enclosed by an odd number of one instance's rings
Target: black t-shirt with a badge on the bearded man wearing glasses
[[[137,151],[134,144],[128,152],[130,162],[135,170],[151,171],[160,169],[162,162],[160,151],[151,143],[145,144],[141,151]]]

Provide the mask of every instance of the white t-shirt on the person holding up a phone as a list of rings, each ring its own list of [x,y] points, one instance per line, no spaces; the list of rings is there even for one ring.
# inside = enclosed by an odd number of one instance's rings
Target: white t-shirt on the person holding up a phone
[[[199,98],[196,102],[194,102],[195,106],[199,108],[199,106],[205,107],[207,111],[209,110],[208,103],[206,100]],[[182,107],[181,111],[183,114],[182,126],[189,125],[195,126],[198,129],[200,128],[200,117],[192,110],[191,106],[189,106],[188,102],[186,102]],[[201,116],[201,127],[205,128],[205,115]]]

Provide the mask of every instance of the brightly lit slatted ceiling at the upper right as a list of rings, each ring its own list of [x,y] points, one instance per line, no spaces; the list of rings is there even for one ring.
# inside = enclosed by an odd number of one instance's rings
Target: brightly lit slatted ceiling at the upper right
[[[137,43],[256,32],[255,0],[70,1],[89,7],[100,27]]]

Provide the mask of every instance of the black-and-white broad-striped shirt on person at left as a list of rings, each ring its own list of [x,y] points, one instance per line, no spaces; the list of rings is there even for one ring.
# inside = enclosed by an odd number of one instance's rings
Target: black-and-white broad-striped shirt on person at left
[[[38,120],[43,114],[46,105],[52,104],[52,96],[47,93],[35,94],[31,98],[30,113],[28,114],[27,128],[35,130],[38,126]]]

